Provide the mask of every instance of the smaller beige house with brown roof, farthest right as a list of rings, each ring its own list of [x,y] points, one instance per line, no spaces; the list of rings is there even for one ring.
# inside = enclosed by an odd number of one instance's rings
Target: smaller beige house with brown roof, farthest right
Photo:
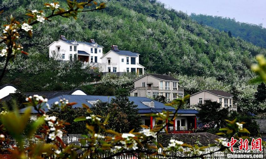
[[[223,90],[202,90],[190,95],[190,105],[204,104],[206,100],[211,100],[221,103],[222,108],[237,110],[237,106],[233,105],[233,96]]]

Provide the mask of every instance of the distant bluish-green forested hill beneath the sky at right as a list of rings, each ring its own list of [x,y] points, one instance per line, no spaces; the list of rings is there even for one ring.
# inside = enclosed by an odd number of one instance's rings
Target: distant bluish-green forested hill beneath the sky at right
[[[263,28],[262,25],[241,23],[231,18],[203,14],[192,13],[190,17],[202,25],[211,26],[220,31],[230,31],[235,37],[239,36],[254,45],[266,48],[266,28]]]

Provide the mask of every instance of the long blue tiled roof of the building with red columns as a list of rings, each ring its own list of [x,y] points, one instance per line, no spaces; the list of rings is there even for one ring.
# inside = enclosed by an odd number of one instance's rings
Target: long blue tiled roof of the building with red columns
[[[87,104],[89,107],[92,106],[88,101],[95,101],[96,99],[99,99],[102,102],[110,102],[112,98],[115,98],[114,96],[100,96],[100,95],[60,95],[58,97],[52,98],[48,100],[49,105],[53,105],[54,102],[59,101],[60,99],[67,99],[69,102],[76,102],[77,104],[74,105],[75,108],[82,107],[82,104]],[[156,100],[154,101],[154,108],[150,108],[149,106],[143,104],[141,101],[151,101],[151,99],[146,97],[128,97],[129,100],[134,102],[135,105],[137,105],[137,108],[139,109],[140,114],[145,113],[158,113],[162,110],[169,110],[174,112],[175,109],[171,106],[166,106],[161,102],[158,102]],[[47,107],[43,107],[44,111],[48,111]],[[20,110],[20,113],[24,113],[26,108],[23,108]],[[36,110],[32,110],[31,113],[37,113]],[[178,110],[178,113],[180,114],[197,114],[197,110]]]

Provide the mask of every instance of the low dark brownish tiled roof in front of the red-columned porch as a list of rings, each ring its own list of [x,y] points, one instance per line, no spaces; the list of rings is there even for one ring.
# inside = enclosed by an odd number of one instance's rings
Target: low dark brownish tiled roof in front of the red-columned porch
[[[162,146],[167,147],[171,139],[182,141],[189,145],[197,144],[199,146],[207,146],[209,144],[215,144],[217,141],[215,139],[220,138],[220,136],[213,135],[207,132],[200,133],[180,133],[180,134],[159,134],[157,135],[157,142],[161,143]],[[199,144],[197,143],[199,142]]]

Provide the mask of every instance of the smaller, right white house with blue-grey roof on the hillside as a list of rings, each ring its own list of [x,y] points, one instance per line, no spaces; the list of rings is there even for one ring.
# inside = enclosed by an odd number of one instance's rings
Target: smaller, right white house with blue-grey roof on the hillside
[[[119,50],[116,45],[112,45],[111,47],[112,49],[100,58],[102,63],[97,64],[97,67],[102,72],[117,74],[135,72],[138,75],[143,75],[145,67],[139,64],[140,54]]]

